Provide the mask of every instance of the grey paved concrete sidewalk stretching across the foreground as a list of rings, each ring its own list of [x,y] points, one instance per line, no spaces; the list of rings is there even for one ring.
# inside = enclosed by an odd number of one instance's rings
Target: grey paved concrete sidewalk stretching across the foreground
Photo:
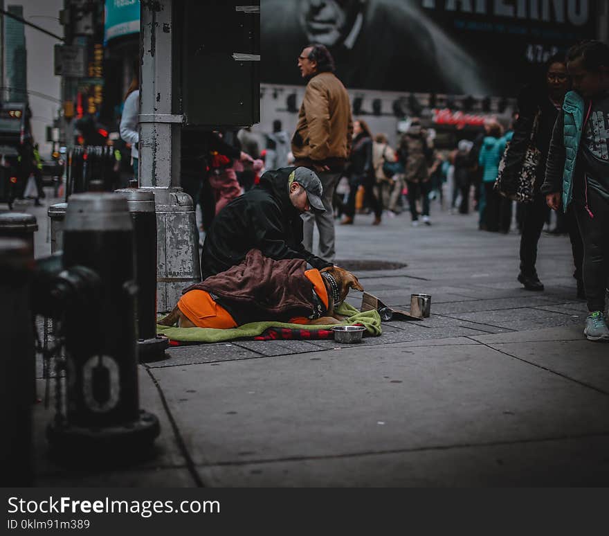
[[[358,346],[171,348],[140,366],[141,407],[162,432],[156,456],[128,469],[49,461],[53,411],[38,404],[37,485],[607,485],[609,345],[583,337],[568,239],[542,236],[546,290],[527,292],[518,233],[434,209],[430,227],[412,228],[408,214],[337,226],[337,264],[406,262],[357,275],[389,305],[432,294],[430,319],[383,323]]]

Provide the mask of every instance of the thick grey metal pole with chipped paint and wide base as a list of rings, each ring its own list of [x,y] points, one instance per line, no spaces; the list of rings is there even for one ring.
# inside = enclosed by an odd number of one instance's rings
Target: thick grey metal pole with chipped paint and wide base
[[[142,0],[140,15],[140,187],[154,192],[157,229],[156,306],[171,310],[201,280],[194,204],[180,184],[181,113],[174,109],[178,0]],[[175,35],[174,35],[175,34]],[[176,82],[179,83],[179,82]]]

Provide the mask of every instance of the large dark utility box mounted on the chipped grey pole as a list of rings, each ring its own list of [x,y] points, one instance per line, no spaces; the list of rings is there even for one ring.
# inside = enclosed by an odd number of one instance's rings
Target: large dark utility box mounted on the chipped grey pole
[[[185,124],[213,129],[258,123],[260,0],[184,0],[181,22]]]

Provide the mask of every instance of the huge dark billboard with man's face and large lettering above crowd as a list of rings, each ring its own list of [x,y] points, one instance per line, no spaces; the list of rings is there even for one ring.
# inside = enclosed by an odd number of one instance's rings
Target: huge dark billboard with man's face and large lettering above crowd
[[[302,84],[329,47],[347,88],[512,96],[540,64],[596,35],[597,0],[262,0],[261,78]]]

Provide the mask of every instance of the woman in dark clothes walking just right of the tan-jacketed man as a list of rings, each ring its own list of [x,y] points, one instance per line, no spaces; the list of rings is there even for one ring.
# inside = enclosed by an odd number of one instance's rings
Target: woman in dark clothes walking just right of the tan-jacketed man
[[[372,163],[372,134],[367,123],[361,119],[353,123],[353,146],[347,172],[349,175],[349,199],[347,199],[347,206],[345,207],[345,218],[340,224],[353,224],[357,191],[360,186],[363,186],[364,202],[368,208],[374,211],[372,225],[379,225],[383,207],[374,194],[376,177]]]

